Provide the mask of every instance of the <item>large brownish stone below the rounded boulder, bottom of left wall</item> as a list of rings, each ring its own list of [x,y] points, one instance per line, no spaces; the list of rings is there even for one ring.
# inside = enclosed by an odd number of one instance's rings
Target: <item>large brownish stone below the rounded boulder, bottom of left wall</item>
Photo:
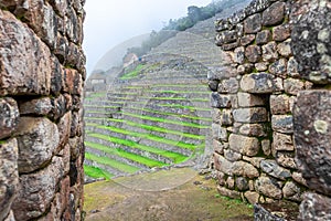
[[[53,157],[46,168],[20,177],[21,189],[12,204],[17,220],[35,219],[50,209],[58,181],[64,176],[63,168],[63,159]]]

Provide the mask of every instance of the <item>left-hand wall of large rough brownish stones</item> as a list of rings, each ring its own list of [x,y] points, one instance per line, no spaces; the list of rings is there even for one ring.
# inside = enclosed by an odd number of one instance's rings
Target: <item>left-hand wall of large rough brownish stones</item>
[[[0,220],[81,220],[85,0],[0,0]]]

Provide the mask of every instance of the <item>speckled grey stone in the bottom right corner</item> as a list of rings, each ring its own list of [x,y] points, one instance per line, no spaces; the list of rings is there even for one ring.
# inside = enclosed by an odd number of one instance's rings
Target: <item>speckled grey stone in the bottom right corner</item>
[[[331,220],[331,198],[308,192],[303,194],[300,204],[298,221],[306,220]]]

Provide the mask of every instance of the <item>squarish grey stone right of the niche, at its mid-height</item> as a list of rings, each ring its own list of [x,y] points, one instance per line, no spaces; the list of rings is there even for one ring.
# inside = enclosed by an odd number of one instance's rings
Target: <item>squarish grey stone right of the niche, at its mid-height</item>
[[[290,115],[274,115],[271,117],[271,127],[274,131],[292,134],[293,118]]]

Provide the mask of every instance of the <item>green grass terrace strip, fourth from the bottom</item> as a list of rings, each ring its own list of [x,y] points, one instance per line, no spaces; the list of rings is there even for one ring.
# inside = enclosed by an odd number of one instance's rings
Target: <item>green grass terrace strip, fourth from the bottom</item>
[[[95,134],[95,133],[87,133],[87,135],[90,136],[90,137],[96,137],[96,138],[99,138],[99,139],[111,141],[111,143],[117,144],[117,145],[122,145],[122,146],[127,146],[127,147],[130,147],[130,148],[140,149],[140,150],[143,150],[143,151],[160,155],[162,157],[171,159],[173,161],[173,164],[179,164],[179,162],[182,162],[182,161],[185,161],[186,159],[189,159],[188,156],[184,156],[184,155],[181,155],[181,154],[178,154],[178,152],[172,152],[172,151],[168,151],[168,150],[158,149],[156,147],[149,147],[149,146],[146,146],[146,145],[140,145],[140,144],[138,144],[136,141],[132,141],[132,140],[129,140],[129,139],[120,139],[120,138],[117,138],[117,137],[111,137],[111,136],[108,136],[108,135],[100,135],[100,134]]]

